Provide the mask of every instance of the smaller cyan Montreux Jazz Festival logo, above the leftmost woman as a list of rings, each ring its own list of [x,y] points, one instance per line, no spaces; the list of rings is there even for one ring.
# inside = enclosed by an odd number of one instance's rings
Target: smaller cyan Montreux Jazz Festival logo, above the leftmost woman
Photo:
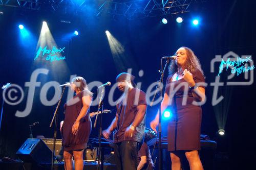
[[[40,46],[36,52],[34,60],[36,60],[40,55],[41,57],[46,57],[45,59],[51,62],[65,60],[66,57],[61,55],[61,53],[64,53],[64,49],[65,47],[57,48],[56,46],[53,46],[52,49],[48,49],[47,45],[44,48]]]

